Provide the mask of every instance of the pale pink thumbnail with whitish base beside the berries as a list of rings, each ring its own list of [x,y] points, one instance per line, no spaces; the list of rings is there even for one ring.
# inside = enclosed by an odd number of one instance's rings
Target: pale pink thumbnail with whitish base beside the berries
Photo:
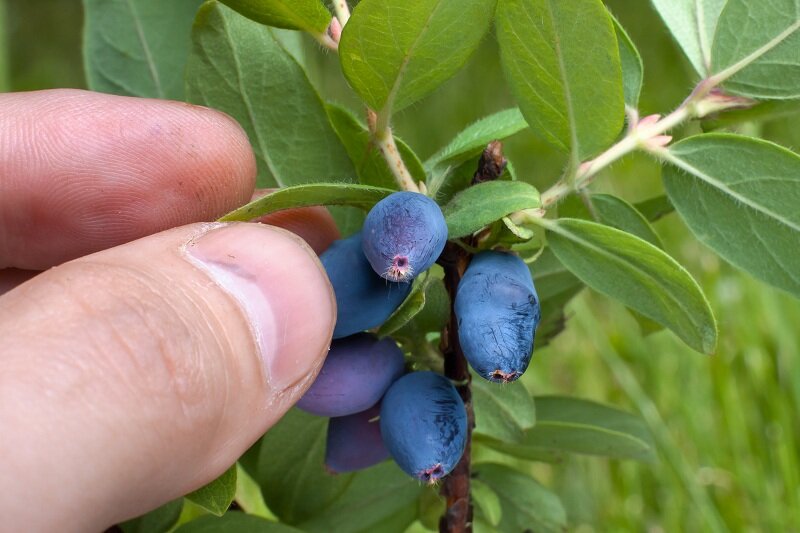
[[[330,344],[335,300],[319,261],[299,237],[235,223],[211,229],[186,252],[241,306],[274,390],[317,370]]]

